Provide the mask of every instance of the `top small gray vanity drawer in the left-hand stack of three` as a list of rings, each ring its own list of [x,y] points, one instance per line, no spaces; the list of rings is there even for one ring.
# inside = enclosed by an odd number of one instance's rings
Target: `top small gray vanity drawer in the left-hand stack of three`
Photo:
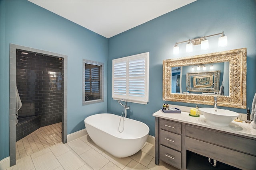
[[[181,134],[181,123],[160,119],[160,129]]]

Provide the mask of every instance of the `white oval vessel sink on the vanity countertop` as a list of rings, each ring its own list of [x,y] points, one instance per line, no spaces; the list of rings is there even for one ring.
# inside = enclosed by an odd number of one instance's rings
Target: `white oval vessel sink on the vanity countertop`
[[[238,113],[225,109],[215,109],[209,107],[199,108],[206,118],[207,123],[219,126],[228,126],[231,121],[239,116]]]

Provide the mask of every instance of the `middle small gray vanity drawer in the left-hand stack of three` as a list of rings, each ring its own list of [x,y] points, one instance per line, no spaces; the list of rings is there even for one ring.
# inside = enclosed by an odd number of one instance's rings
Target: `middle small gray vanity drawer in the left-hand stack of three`
[[[160,130],[160,144],[181,151],[181,135]]]

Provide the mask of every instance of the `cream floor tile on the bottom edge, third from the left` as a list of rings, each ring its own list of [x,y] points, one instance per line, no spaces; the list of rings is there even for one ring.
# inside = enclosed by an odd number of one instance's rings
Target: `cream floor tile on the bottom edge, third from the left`
[[[65,170],[76,170],[86,164],[73,150],[70,150],[57,157]]]

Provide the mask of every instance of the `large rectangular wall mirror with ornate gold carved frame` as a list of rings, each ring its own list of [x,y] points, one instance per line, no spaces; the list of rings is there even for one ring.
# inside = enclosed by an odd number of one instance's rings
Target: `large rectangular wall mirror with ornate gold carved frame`
[[[187,88],[182,87],[182,84],[185,84],[184,86],[187,85],[185,80],[186,73],[190,75],[196,72],[202,73],[202,70],[194,71],[192,67],[203,68],[210,66],[208,68],[212,69],[214,64],[224,65],[224,69],[220,69],[220,80],[218,84],[212,83],[212,87],[218,87],[217,90],[214,90],[214,93],[206,93],[207,89],[202,90],[202,92],[190,92]],[[176,68],[179,68],[181,73],[179,78],[173,81],[172,77],[174,77],[174,73],[172,72],[178,70]],[[188,68],[190,71],[188,71]],[[219,68],[216,69],[219,70]],[[205,70],[205,72],[210,71]],[[182,75],[185,75],[185,78],[184,76],[181,78]],[[184,80],[182,81],[182,79]],[[218,91],[223,90],[219,89],[222,88],[223,83],[226,85],[226,88],[224,88],[225,93],[221,94]],[[177,86],[179,85],[179,87],[176,86],[176,88],[179,88],[177,92],[172,89],[176,84]],[[163,61],[164,101],[213,105],[214,96],[216,95],[218,96],[218,106],[246,109],[246,48]]]

